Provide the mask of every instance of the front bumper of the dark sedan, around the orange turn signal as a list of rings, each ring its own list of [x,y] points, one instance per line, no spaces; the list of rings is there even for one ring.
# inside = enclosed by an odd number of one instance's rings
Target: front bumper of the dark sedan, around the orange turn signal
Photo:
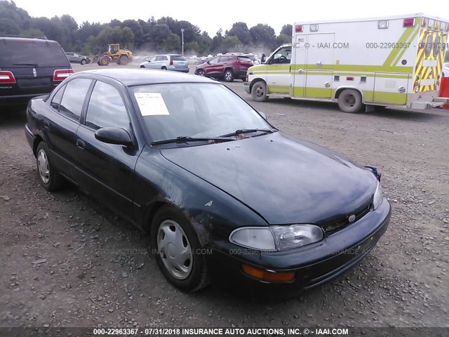
[[[250,287],[280,287],[281,289],[310,289],[330,281],[360,262],[375,247],[387,230],[391,206],[386,198],[366,216],[321,242],[299,249],[279,252],[257,252],[228,242],[213,246],[210,265],[217,272],[225,272],[227,279]],[[295,272],[288,283],[262,282],[243,273],[242,265],[250,265],[269,272]],[[216,266],[214,268],[214,266]],[[232,282],[229,281],[229,282]]]

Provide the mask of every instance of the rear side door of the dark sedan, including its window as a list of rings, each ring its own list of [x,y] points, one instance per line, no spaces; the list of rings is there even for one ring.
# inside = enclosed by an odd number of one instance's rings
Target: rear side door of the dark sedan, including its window
[[[71,180],[75,178],[76,131],[91,83],[91,79],[73,79],[58,88],[50,102],[54,113],[42,120],[43,138],[50,157],[61,173]]]

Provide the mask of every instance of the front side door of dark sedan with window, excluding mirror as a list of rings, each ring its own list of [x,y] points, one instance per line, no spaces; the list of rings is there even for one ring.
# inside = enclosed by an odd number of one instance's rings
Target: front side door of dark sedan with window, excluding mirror
[[[95,131],[123,128],[133,137],[128,110],[118,88],[96,81],[86,105],[86,116],[76,132],[76,169],[81,189],[103,201],[121,216],[133,217],[133,178],[138,145],[103,143]]]

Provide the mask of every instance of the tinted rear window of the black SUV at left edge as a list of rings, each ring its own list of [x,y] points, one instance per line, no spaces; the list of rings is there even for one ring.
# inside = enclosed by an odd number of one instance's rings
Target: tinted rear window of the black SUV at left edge
[[[0,68],[69,67],[58,42],[39,39],[1,39]]]

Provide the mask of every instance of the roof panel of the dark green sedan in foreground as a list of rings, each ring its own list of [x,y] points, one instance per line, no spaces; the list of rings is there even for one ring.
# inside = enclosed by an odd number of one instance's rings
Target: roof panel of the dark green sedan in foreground
[[[109,77],[111,79],[115,79],[116,81],[120,81],[125,86],[182,82],[217,83],[216,81],[213,81],[211,79],[192,74],[170,72],[167,70],[149,70],[140,68],[85,70],[83,72],[76,72],[76,74],[93,74],[93,77],[97,78]]]

